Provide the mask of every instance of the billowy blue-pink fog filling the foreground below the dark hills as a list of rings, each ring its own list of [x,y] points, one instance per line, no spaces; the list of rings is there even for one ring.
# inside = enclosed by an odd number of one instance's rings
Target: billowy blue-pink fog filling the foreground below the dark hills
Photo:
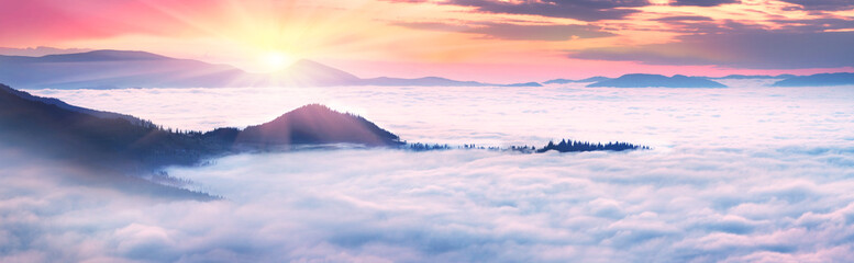
[[[226,196],[210,203],[4,170],[0,260],[847,262],[852,152],[345,150],[170,170]]]

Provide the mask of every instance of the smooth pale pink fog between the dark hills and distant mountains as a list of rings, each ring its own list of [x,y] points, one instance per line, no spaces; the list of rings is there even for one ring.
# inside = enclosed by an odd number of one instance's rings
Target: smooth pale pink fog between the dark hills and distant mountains
[[[537,89],[329,87],[31,92],[195,130],[245,127],[309,103],[321,103],[359,114],[401,139],[421,142],[544,145],[550,139],[573,137],[654,147],[740,147],[844,142],[851,137],[835,132],[854,129],[847,99],[854,96],[854,90],[779,90],[763,87],[773,82],[764,81],[722,80],[732,87],[723,90],[562,84]]]

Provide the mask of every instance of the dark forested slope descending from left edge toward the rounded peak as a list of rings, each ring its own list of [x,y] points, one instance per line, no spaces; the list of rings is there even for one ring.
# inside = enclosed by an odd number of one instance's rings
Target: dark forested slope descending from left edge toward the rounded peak
[[[69,111],[26,100],[29,94],[10,90],[0,85],[0,138],[11,146],[38,150],[46,157],[142,170],[195,163],[202,156],[222,152],[229,147],[219,138],[171,133],[147,122],[132,123],[121,117]]]

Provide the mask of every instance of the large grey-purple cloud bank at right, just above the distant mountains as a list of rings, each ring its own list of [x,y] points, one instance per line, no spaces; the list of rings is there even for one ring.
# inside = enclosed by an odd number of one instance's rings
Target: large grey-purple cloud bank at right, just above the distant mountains
[[[683,35],[677,42],[639,47],[594,48],[568,57],[648,65],[716,65],[752,69],[854,66],[854,32],[743,31]]]

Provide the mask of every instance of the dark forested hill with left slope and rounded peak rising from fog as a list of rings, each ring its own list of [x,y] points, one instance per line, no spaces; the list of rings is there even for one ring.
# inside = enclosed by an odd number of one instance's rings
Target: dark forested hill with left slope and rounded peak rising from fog
[[[363,117],[322,105],[303,106],[246,130],[176,132],[127,115],[33,96],[3,84],[0,84],[0,140],[48,158],[129,171],[193,164],[204,158],[253,147],[400,144],[397,135]]]

